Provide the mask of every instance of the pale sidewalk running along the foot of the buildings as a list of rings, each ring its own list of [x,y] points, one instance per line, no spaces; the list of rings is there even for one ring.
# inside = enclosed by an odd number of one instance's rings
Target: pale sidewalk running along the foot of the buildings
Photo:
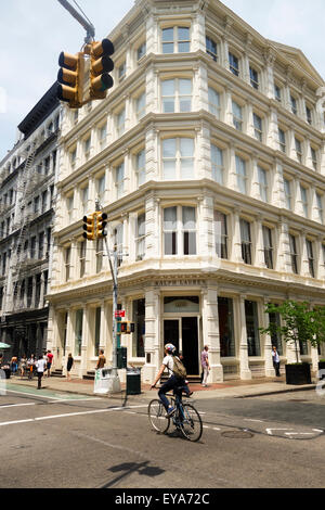
[[[37,379],[28,381],[26,379],[22,379],[20,375],[10,378],[8,382],[11,384],[16,384],[17,386],[23,385],[25,387],[37,387]],[[67,381],[65,378],[44,377],[42,379],[42,387],[56,392],[95,396],[93,393],[94,382],[83,379],[72,379],[72,381]],[[125,390],[125,387],[126,384],[121,384],[121,388]],[[315,382],[313,384],[307,385],[286,384],[285,377],[253,379],[250,381],[232,380],[225,381],[223,383],[209,384],[207,387],[203,387],[200,384],[191,384],[191,390],[194,392],[194,399],[226,397],[244,398],[262,395],[274,395],[277,393],[301,392],[314,390],[315,387]],[[151,399],[155,397],[156,393],[156,391],[151,390],[148,384],[141,384],[141,394],[132,395],[132,397],[138,396],[141,398]]]

